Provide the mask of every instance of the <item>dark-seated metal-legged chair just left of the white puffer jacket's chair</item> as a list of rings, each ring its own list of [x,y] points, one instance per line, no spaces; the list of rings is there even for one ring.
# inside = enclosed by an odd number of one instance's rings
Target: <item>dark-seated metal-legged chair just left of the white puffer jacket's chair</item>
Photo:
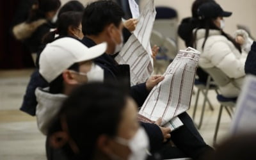
[[[203,102],[203,106],[202,106],[199,124],[196,125],[198,129],[201,129],[201,127],[202,127],[206,102],[209,104],[209,108],[211,109],[211,111],[214,111],[214,108],[212,107],[212,104],[208,98],[208,92],[209,92],[209,90],[215,90],[215,92],[218,94],[218,87],[214,84],[214,82],[211,79],[212,79],[211,76],[208,76],[206,83],[202,83],[202,82],[198,81],[197,79],[195,79],[194,84],[195,84],[195,87],[198,88],[198,91],[196,93],[195,107],[194,107],[193,116],[192,116],[194,122],[195,122],[195,113],[196,113],[196,109],[197,109],[200,92],[202,92],[202,94],[204,95],[204,102]]]

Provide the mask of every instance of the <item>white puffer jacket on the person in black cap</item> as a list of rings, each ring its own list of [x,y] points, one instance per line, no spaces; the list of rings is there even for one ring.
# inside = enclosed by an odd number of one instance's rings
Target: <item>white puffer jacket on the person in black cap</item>
[[[221,35],[221,31],[214,29],[210,29],[203,50],[204,37],[205,29],[198,29],[196,49],[201,52],[199,66],[202,68],[220,68],[228,77],[234,79],[233,83],[221,86],[220,92],[225,97],[237,97],[245,76],[246,52],[241,54],[230,40]]]

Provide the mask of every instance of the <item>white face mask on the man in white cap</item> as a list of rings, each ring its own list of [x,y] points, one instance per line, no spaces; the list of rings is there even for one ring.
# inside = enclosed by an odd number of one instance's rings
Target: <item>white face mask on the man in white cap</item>
[[[104,81],[104,70],[101,67],[99,67],[99,65],[95,65],[95,63],[92,63],[91,70],[86,74],[82,72],[74,72],[81,76],[86,76],[88,79],[87,83]]]

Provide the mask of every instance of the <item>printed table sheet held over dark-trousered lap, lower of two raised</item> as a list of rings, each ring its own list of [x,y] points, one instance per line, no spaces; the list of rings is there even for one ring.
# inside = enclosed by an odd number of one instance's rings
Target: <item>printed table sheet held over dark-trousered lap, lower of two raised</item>
[[[189,109],[199,57],[200,52],[191,47],[179,51],[166,69],[164,80],[153,88],[141,107],[141,121],[156,122],[161,117],[161,125],[172,131],[183,125],[177,115]]]

